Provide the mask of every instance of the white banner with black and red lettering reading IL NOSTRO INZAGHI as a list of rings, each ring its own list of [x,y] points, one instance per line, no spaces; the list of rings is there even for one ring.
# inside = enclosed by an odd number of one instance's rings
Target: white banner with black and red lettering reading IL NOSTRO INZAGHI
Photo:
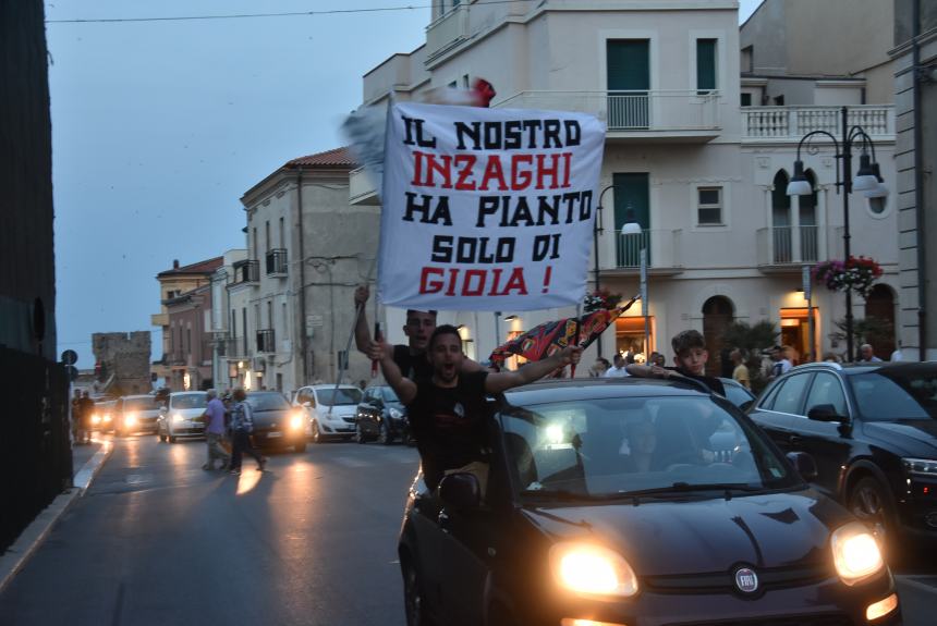
[[[380,300],[424,310],[581,303],[604,144],[604,125],[583,113],[394,105]]]

